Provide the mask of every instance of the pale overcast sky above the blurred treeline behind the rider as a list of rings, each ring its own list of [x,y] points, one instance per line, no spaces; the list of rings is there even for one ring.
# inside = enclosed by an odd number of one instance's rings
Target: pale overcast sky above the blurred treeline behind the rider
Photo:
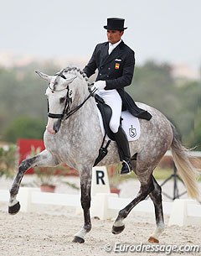
[[[201,65],[200,0],[0,0],[0,51],[89,59],[106,18],[126,18],[123,40],[146,60]]]

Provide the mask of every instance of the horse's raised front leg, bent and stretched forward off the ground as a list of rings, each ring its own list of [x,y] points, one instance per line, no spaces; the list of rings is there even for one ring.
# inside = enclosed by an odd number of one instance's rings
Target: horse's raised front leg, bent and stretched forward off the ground
[[[23,162],[19,165],[18,174],[15,176],[13,185],[10,189],[10,200],[8,204],[8,212],[10,214],[16,214],[20,209],[20,204],[16,200],[16,196],[18,195],[19,186],[25,172],[34,166],[55,165],[59,165],[59,161],[55,159],[54,156],[50,154],[49,151],[46,149],[42,151],[40,154],[37,154],[30,159],[23,160]]]

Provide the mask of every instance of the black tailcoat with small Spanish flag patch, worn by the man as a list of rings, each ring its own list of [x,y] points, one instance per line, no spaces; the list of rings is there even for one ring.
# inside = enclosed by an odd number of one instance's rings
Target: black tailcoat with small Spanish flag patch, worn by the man
[[[85,66],[86,76],[90,77],[98,69],[96,81],[106,81],[105,90],[116,89],[122,99],[124,109],[132,115],[149,120],[152,116],[138,108],[136,103],[124,90],[131,85],[135,67],[135,53],[121,41],[108,55],[109,43],[97,44],[89,63]]]

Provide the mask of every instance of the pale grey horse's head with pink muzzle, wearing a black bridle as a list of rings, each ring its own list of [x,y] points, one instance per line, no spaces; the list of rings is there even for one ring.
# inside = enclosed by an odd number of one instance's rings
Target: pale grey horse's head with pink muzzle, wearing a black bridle
[[[59,132],[61,121],[65,119],[70,110],[73,91],[75,91],[72,83],[77,76],[65,71],[59,71],[55,76],[36,71],[40,77],[49,82],[45,93],[49,104],[49,120],[46,128],[52,134]]]

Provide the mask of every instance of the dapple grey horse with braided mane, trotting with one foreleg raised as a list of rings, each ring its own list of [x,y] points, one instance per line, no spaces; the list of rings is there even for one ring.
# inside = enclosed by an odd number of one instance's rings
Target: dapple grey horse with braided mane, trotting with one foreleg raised
[[[89,90],[90,84],[85,73],[76,67],[67,67],[54,76],[40,71],[36,73],[48,81],[46,96],[49,102],[48,123],[44,132],[45,149],[29,159],[24,159],[10,189],[8,212],[16,214],[20,210],[17,200],[18,190],[25,172],[34,166],[56,166],[65,163],[80,174],[80,201],[84,213],[84,225],[73,238],[75,243],[84,243],[90,232],[90,186],[92,167],[100,149],[104,135],[96,111],[95,98]],[[111,232],[121,233],[124,219],[140,201],[150,196],[155,208],[156,228],[148,238],[150,243],[159,243],[164,230],[162,213],[162,189],[153,176],[162,156],[172,149],[173,160],[178,174],[187,187],[188,196],[198,199],[196,174],[200,172],[191,161],[190,149],[179,139],[177,129],[162,112],[142,102],[141,107],[152,114],[150,121],[140,119],[141,135],[129,143],[132,167],[140,181],[137,196],[120,212],[113,223]],[[108,138],[105,138],[105,140]],[[116,142],[111,141],[108,154],[98,165],[113,165],[120,162]]]

